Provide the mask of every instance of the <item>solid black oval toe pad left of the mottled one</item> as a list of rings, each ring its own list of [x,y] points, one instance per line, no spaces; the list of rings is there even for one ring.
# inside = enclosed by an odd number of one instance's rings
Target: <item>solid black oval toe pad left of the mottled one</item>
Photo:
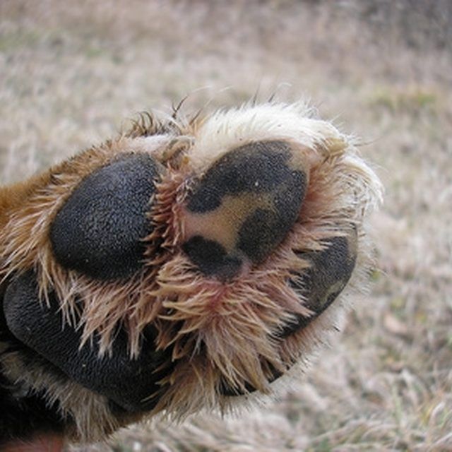
[[[100,280],[127,278],[141,268],[158,176],[150,155],[127,154],[83,179],[50,230],[57,261]]]

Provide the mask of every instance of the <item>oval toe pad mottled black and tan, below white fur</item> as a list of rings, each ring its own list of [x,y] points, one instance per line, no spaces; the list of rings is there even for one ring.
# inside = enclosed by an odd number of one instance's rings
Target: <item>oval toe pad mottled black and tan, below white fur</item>
[[[307,174],[284,141],[249,143],[220,157],[186,204],[182,248],[205,275],[231,278],[265,261],[299,215]]]

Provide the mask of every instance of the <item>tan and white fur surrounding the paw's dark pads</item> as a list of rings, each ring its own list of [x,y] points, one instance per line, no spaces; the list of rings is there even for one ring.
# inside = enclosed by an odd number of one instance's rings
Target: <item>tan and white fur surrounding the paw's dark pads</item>
[[[263,109],[266,121],[271,119],[272,108],[275,121],[281,111],[294,123],[291,127],[297,129],[296,115],[301,115],[302,111],[295,107],[266,105]],[[255,122],[258,122],[258,114],[257,109]],[[207,168],[199,164],[204,162],[201,156],[208,155],[203,143],[207,147],[206,143],[210,143],[210,137],[204,137],[203,130],[215,130],[212,121],[220,124],[221,119],[220,116],[210,122],[209,119],[165,122],[145,116],[129,133],[116,140],[87,150],[25,184],[0,191],[0,258],[5,278],[35,268],[42,299],[49,290],[55,290],[66,321],[70,323],[76,297],[82,299],[83,340],[99,333],[102,352],[110,350],[112,333],[118,323],[129,332],[132,356],[140,350],[140,335],[148,323],[157,327],[159,349],[174,346],[174,369],[160,382],[160,401],[153,414],[165,412],[170,417],[183,417],[206,407],[227,409],[232,399],[221,395],[221,384],[244,393],[246,386],[251,385],[261,393],[268,393],[275,370],[284,374],[295,363],[304,362],[323,343],[343,309],[342,295],[307,328],[283,341],[278,340],[278,331],[294,319],[295,314],[307,317],[312,314],[304,306],[304,300],[287,285],[294,271],[309,266],[309,261],[297,257],[295,251],[319,250],[326,239],[347,236],[352,227],[357,227],[358,267],[364,268],[368,263],[362,222],[369,206],[378,202],[378,180],[357,157],[347,138],[331,124],[300,119],[300,124],[311,129],[302,130],[298,135],[292,129],[287,133],[278,130],[278,135],[263,137],[290,143],[296,150],[291,165],[303,167],[309,175],[307,194],[295,226],[270,258],[249,268],[240,278],[224,283],[201,275],[182,253],[183,239],[202,231],[206,237],[209,234],[215,239],[221,237],[218,241],[228,248],[237,227],[231,225],[230,230],[216,231],[215,227],[208,228],[209,223],[222,222],[232,211],[240,215],[246,203],[267,202],[265,198],[254,199],[251,195],[234,198],[230,206],[227,201],[222,206],[226,213],[206,214],[205,222],[198,218],[195,231],[187,226],[193,221],[184,202],[194,181],[202,177]],[[261,138],[258,126],[255,127],[255,136],[254,129],[243,132],[244,142],[250,137]],[[225,126],[224,137],[219,138],[224,144],[218,150],[219,156],[243,144],[242,138],[237,138],[239,132],[234,131],[234,136],[227,133],[230,131]],[[149,146],[146,139],[152,136],[161,138]],[[62,268],[55,261],[49,242],[49,225],[83,177],[124,152],[149,152],[165,165],[149,212],[155,229],[145,239],[146,262],[140,273],[127,283],[90,280]],[[214,161],[211,157],[208,160],[210,164]],[[162,242],[158,250],[157,239]],[[49,381],[42,369],[36,374],[33,369],[21,369],[17,362],[15,366],[27,384],[46,388],[51,400],[60,400],[63,409],[75,415],[78,434],[84,439],[90,435],[97,438],[118,427],[99,396],[89,391],[85,394],[86,390],[75,383],[59,386]],[[80,400],[86,402],[85,412],[78,408]],[[97,416],[99,419],[95,420]],[[99,425],[93,427],[96,423],[105,424],[105,431],[98,431]],[[93,433],[86,434],[87,431]]]

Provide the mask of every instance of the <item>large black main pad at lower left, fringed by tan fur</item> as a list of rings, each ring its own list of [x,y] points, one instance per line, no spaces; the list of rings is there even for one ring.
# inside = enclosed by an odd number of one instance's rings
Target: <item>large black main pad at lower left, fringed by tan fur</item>
[[[162,375],[155,369],[165,359],[163,352],[155,352],[154,331],[144,334],[138,359],[130,359],[127,337],[119,331],[112,347],[112,357],[99,357],[99,347],[93,343],[79,349],[81,331],[64,326],[59,302],[50,296],[50,307],[38,301],[35,275],[20,275],[6,290],[4,313],[11,333],[18,340],[38,352],[82,386],[107,396],[129,412],[150,410],[157,400],[145,400],[157,390]]]

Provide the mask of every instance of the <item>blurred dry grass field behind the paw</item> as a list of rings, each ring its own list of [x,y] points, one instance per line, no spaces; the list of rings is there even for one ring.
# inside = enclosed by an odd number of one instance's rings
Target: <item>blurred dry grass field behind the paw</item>
[[[386,186],[371,293],[304,381],[73,451],[452,451],[451,51],[448,0],[0,1],[2,183],[187,94],[276,90],[361,136]]]

